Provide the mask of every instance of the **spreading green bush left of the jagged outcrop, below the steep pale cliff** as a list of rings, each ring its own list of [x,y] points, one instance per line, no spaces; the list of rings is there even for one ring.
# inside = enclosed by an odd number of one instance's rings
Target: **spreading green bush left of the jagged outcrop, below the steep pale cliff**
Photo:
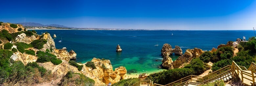
[[[60,59],[57,59],[55,55],[52,55],[48,52],[43,51],[37,51],[36,56],[38,57],[36,62],[38,63],[45,63],[45,62],[52,62],[54,65],[61,64],[62,61]]]

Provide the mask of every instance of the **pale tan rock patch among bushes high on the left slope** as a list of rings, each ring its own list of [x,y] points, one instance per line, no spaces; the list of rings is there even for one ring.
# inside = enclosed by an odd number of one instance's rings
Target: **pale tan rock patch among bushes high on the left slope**
[[[33,40],[36,40],[36,37],[34,35],[26,36],[26,34],[24,34],[24,33],[18,35],[15,38],[16,42],[23,42],[23,43],[27,43],[27,44],[31,43]]]

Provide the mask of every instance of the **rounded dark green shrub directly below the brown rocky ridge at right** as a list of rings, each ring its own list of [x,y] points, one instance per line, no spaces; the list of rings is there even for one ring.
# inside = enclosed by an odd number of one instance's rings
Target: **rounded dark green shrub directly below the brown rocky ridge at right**
[[[195,72],[193,75],[200,75],[204,71],[210,69],[210,66],[206,63],[203,63],[200,58],[194,58],[188,65],[184,66],[184,68],[191,68]]]

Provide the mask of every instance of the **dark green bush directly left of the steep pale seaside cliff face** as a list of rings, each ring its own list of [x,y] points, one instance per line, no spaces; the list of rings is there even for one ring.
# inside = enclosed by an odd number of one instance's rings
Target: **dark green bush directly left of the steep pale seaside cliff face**
[[[30,44],[36,49],[42,49],[44,44],[47,43],[46,39],[33,40]]]

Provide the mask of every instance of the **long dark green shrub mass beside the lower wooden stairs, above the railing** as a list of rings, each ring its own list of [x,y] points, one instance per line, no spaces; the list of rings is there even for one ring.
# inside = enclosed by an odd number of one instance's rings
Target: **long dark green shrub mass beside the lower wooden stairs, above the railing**
[[[176,68],[150,74],[146,80],[152,80],[154,83],[165,85],[193,74],[194,70],[191,68]]]

